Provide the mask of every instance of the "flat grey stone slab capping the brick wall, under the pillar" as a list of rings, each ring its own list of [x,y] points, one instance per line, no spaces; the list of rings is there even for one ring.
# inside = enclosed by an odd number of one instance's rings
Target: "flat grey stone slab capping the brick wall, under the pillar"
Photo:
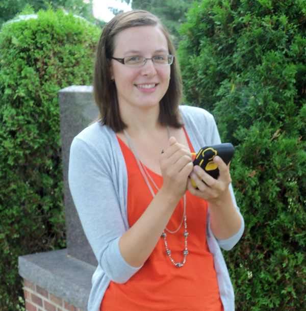
[[[19,256],[18,269],[21,277],[87,310],[95,267],[68,255],[67,249]]]

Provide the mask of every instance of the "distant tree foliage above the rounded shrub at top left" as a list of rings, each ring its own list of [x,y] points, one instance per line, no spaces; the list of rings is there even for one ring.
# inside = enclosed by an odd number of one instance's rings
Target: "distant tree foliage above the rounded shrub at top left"
[[[23,11],[29,6],[29,1],[26,0],[1,0],[0,2],[0,25],[12,19],[17,13]],[[77,14],[94,22],[92,11],[92,0],[84,2],[83,0],[35,0],[31,1],[31,6],[34,11],[46,10],[52,8],[54,10],[65,9],[70,13]]]

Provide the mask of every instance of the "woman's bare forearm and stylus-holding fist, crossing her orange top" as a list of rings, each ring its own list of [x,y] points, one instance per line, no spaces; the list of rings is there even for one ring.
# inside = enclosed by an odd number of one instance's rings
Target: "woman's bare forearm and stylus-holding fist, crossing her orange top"
[[[186,192],[187,177],[193,165],[190,150],[169,139],[169,147],[160,156],[163,186],[136,223],[121,236],[120,252],[133,267],[142,265],[159,241],[177,203]]]

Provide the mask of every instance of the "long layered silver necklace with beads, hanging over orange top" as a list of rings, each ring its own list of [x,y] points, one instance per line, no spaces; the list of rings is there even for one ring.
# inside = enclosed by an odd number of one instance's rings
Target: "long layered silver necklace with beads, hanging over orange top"
[[[170,129],[169,129],[169,126],[167,126],[167,131],[168,131],[168,136],[170,137]],[[125,137],[126,137],[126,140],[127,140],[127,142],[129,143],[130,148],[131,148],[131,150],[132,150],[132,152],[133,152],[133,154],[134,154],[134,157],[135,157],[135,159],[136,159],[136,162],[137,162],[137,165],[138,165],[138,167],[139,167],[139,170],[140,170],[140,172],[141,172],[141,174],[142,174],[142,176],[143,176],[143,178],[144,178],[144,180],[145,180],[145,182],[146,182],[146,184],[147,184],[147,186],[148,186],[148,188],[149,188],[149,190],[150,190],[152,196],[155,197],[155,192],[153,191],[153,189],[152,189],[152,187],[151,187],[151,185],[150,185],[150,183],[149,183],[149,181],[148,181],[147,176],[149,177],[149,179],[151,180],[152,184],[153,184],[154,187],[157,189],[157,191],[159,191],[159,188],[157,187],[157,185],[156,185],[156,183],[154,182],[153,178],[152,178],[152,177],[150,176],[150,174],[148,173],[146,167],[139,161],[138,155],[137,155],[137,153],[136,153],[136,150],[135,150],[135,148],[134,148],[134,145],[133,145],[133,143],[132,143],[132,140],[131,140],[130,136],[126,133],[126,131],[125,131],[124,129],[123,129],[123,133],[124,133],[124,135],[125,135]],[[185,238],[185,249],[183,250],[183,255],[184,255],[184,257],[183,257],[183,262],[182,262],[182,263],[181,263],[181,262],[175,263],[175,261],[173,260],[173,258],[172,258],[172,256],[171,256],[171,250],[168,248],[168,244],[167,244],[167,240],[166,240],[167,234],[166,234],[165,230],[167,230],[170,234],[174,234],[174,233],[176,233],[177,231],[180,230],[180,228],[182,227],[183,222],[184,222],[184,238]],[[186,194],[184,194],[184,212],[183,212],[183,217],[182,217],[181,224],[180,224],[179,227],[178,227],[176,230],[174,230],[174,231],[170,231],[169,229],[167,229],[167,227],[165,227],[165,230],[164,230],[163,233],[162,233],[162,238],[164,239],[164,244],[165,244],[165,248],[166,248],[166,254],[168,255],[168,257],[169,257],[171,263],[172,263],[174,266],[176,266],[177,268],[181,268],[181,267],[183,267],[183,266],[185,265],[185,263],[186,263],[186,257],[187,257],[187,255],[188,255],[188,253],[189,253],[189,252],[188,252],[188,249],[187,249],[187,238],[188,238],[189,233],[187,232]]]

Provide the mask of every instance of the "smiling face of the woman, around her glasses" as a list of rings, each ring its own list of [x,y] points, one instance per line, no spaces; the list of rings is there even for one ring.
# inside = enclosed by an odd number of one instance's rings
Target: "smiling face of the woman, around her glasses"
[[[156,26],[128,28],[115,37],[115,58],[152,58],[167,54],[169,51],[166,37]],[[170,66],[156,66],[151,60],[147,60],[141,67],[127,67],[112,59],[111,72],[122,117],[126,111],[133,113],[137,109],[159,109],[159,102],[169,86]]]

